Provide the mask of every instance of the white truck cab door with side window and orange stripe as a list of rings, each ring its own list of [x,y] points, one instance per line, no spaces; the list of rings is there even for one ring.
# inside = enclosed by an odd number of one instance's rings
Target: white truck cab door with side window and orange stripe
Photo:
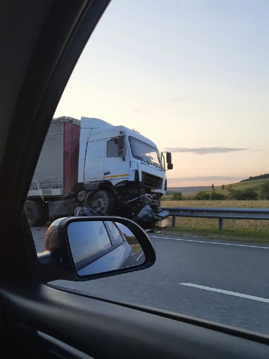
[[[113,185],[129,179],[130,156],[125,138],[122,152],[123,156],[118,154],[118,145],[113,138],[105,140],[104,179]]]

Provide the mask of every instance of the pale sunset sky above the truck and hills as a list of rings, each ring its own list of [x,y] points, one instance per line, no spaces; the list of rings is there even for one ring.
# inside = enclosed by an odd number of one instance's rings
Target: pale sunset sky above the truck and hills
[[[124,125],[171,151],[168,187],[269,173],[269,1],[112,0],[60,116]]]

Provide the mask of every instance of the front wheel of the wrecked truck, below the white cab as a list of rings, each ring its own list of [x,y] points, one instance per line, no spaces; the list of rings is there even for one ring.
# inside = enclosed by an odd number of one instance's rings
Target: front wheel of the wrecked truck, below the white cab
[[[115,198],[111,192],[97,191],[90,199],[89,206],[94,211],[99,210],[104,214],[115,214]]]

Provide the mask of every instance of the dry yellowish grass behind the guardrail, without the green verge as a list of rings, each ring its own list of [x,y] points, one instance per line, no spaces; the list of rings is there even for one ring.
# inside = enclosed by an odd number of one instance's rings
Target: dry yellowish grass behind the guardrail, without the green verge
[[[165,201],[164,207],[233,207],[233,208],[269,208],[269,201]],[[169,222],[169,227],[171,222]],[[218,219],[178,217],[180,228],[218,228]],[[247,219],[225,219],[225,229],[269,230],[269,221]]]

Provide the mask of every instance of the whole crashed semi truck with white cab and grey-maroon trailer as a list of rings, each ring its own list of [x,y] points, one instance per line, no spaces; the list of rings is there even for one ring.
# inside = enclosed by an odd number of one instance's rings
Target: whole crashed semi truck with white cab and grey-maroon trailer
[[[98,118],[54,118],[25,202],[29,224],[72,216],[85,205],[137,222],[160,220],[165,171],[172,168],[171,153],[165,163],[155,143],[135,130]]]

